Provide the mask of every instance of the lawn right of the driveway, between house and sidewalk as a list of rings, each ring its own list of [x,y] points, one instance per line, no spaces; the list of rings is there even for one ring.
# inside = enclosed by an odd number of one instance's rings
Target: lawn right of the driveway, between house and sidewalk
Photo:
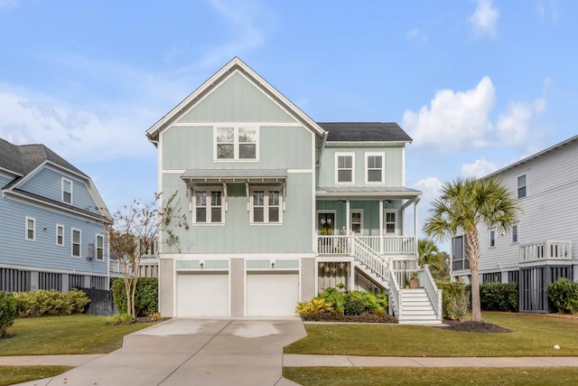
[[[478,334],[415,325],[305,325],[307,337],[284,353],[374,356],[578,356],[578,320],[490,313],[484,320],[513,333]],[[560,350],[554,345],[559,344]]]

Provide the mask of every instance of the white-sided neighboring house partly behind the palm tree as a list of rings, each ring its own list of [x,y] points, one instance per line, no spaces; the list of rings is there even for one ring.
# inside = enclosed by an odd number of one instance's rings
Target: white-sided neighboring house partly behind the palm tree
[[[484,178],[497,177],[519,198],[513,230],[479,229],[480,283],[516,282],[520,311],[550,311],[547,286],[578,278],[578,136]],[[452,279],[470,281],[463,237],[452,240]]]

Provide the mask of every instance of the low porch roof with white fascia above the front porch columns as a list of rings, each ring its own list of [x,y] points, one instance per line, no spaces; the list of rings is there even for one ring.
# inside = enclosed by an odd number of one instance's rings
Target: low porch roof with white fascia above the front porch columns
[[[419,197],[422,193],[406,187],[323,187],[315,190],[318,199],[347,198],[350,200],[411,200]]]

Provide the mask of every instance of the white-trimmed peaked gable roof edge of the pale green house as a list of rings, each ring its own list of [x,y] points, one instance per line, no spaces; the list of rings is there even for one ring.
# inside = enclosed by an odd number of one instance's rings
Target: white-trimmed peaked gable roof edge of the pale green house
[[[275,100],[284,110],[291,116],[308,127],[313,133],[322,137],[325,135],[322,127],[309,118],[300,108],[294,105],[292,101],[286,99],[282,93],[271,86],[259,74],[253,71],[244,61],[241,61],[237,56],[229,61],[223,68],[217,71],[209,80],[206,80],[198,89],[195,89],[191,95],[183,99],[175,108],[172,108],[163,118],[159,119],[152,127],[146,130],[146,137],[149,141],[155,143],[158,141],[159,134],[164,128],[169,127],[174,121],[182,116],[182,114],[193,108],[203,97],[209,94],[213,89],[219,87],[219,84],[226,80],[228,76],[238,71],[245,75],[255,86],[263,91],[267,97]]]

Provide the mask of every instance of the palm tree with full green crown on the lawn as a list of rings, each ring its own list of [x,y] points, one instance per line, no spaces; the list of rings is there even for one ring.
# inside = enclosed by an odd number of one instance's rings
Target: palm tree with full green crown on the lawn
[[[499,232],[510,231],[520,208],[517,198],[495,178],[458,178],[443,184],[442,195],[432,205],[432,216],[424,224],[427,235],[449,240],[455,234],[464,234],[471,270],[471,320],[481,322],[478,227],[485,225]]]

